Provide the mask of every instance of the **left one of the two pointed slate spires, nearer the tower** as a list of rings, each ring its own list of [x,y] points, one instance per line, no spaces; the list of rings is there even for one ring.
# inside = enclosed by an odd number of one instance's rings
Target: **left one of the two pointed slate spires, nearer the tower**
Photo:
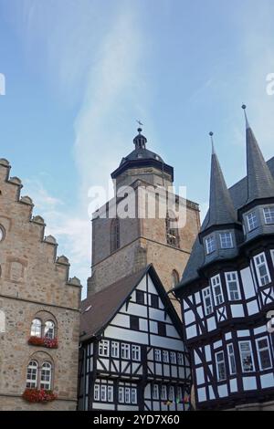
[[[236,210],[215,152],[213,132],[210,132],[209,135],[212,144],[211,177],[208,223],[205,225],[204,230],[212,225],[226,225],[237,222]]]

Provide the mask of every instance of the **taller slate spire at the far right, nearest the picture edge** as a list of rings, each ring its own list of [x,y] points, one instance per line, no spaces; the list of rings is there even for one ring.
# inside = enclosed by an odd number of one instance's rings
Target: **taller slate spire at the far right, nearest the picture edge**
[[[258,141],[249,123],[245,105],[247,124],[247,173],[248,173],[248,198],[246,204],[260,198],[274,197],[274,180],[259,149]]]

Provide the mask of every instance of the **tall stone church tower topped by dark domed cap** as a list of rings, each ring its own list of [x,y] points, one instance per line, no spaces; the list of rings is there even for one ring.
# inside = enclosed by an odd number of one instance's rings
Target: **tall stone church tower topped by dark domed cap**
[[[169,189],[174,183],[173,167],[146,148],[142,129],[138,129],[133,143],[135,149],[122,158],[120,166],[111,174],[114,199],[93,215],[89,295],[151,263],[164,288],[171,289],[179,282],[179,273],[185,267],[199,230],[198,205],[174,195],[173,189]],[[157,194],[159,189],[162,196]],[[174,227],[176,215],[168,207],[162,216],[159,214],[159,202],[167,196],[173,197],[174,207],[179,204],[184,207],[182,227]],[[150,213],[153,197],[155,214]],[[135,215],[132,215],[132,205]],[[128,218],[119,215],[119,206],[128,208]]]

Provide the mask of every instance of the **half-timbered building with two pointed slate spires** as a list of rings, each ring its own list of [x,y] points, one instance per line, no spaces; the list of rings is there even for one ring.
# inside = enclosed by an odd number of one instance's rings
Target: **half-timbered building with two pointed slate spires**
[[[228,190],[213,147],[209,211],[174,288],[199,409],[274,409],[274,158],[246,123],[247,177]]]

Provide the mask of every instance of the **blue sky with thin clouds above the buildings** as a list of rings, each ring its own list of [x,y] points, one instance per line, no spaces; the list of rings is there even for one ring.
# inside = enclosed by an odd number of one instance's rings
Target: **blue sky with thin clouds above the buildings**
[[[71,276],[90,274],[88,189],[132,151],[137,118],[202,214],[209,131],[227,184],[246,172],[243,102],[274,155],[273,16],[273,0],[0,0],[0,157]]]

